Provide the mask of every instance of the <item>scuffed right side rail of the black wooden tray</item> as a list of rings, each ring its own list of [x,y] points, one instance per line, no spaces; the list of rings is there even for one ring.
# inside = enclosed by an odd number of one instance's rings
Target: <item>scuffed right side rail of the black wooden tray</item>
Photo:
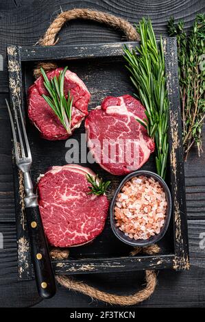
[[[182,144],[182,121],[180,112],[180,86],[178,80],[177,40],[163,39],[167,96],[169,99],[169,162],[171,198],[174,210],[175,269],[189,269],[189,246],[187,236],[186,194]]]

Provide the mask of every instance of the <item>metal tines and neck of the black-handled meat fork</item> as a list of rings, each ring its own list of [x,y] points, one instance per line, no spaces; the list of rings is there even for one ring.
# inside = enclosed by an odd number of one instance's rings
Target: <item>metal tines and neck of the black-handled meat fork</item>
[[[38,206],[37,196],[33,192],[34,187],[32,184],[32,179],[29,175],[29,171],[32,165],[32,153],[27,139],[27,134],[25,130],[21,108],[19,107],[20,117],[18,117],[15,104],[13,101],[14,119],[15,119],[16,128],[17,128],[17,133],[16,133],[12,111],[10,109],[7,99],[5,99],[5,101],[8,107],[8,112],[9,112],[10,122],[12,127],[12,134],[14,138],[14,151],[15,151],[15,157],[16,157],[16,165],[23,172],[23,177],[24,177],[25,207]],[[18,134],[19,141],[17,140],[16,134]]]

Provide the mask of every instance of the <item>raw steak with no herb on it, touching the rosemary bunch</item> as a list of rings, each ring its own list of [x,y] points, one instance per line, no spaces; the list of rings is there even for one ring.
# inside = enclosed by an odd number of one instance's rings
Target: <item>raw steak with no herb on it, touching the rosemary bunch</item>
[[[145,108],[130,95],[106,97],[101,106],[88,114],[88,147],[103,169],[113,175],[126,175],[149,159],[154,141],[136,121],[145,118]]]

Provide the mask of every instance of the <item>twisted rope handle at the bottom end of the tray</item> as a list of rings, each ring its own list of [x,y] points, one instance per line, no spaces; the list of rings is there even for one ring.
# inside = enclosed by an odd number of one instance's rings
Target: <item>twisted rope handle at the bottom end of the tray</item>
[[[160,251],[158,245],[151,245],[149,247],[134,247],[131,251],[130,255],[135,256],[137,253],[147,253],[149,255],[156,254]],[[55,259],[65,259],[69,257],[68,249],[53,249],[51,250],[51,257]],[[64,286],[65,288],[69,288],[70,290],[76,290],[77,292],[83,293],[84,295],[88,295],[93,299],[97,299],[99,301],[104,301],[109,304],[115,304],[120,306],[132,306],[134,304],[141,303],[148,299],[156,288],[156,273],[154,271],[145,271],[145,280],[146,286],[142,290],[132,294],[132,295],[116,295],[111,293],[106,293],[93,286],[89,286],[84,282],[80,282],[74,280],[71,277],[66,275],[57,275],[57,282]]]

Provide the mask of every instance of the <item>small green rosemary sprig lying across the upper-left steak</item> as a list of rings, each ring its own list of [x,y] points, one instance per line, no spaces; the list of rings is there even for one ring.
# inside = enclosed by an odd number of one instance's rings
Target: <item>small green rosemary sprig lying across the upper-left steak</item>
[[[58,119],[71,134],[71,114],[73,97],[71,98],[70,91],[68,92],[68,98],[64,96],[64,76],[68,67],[65,67],[63,71],[60,71],[59,77],[55,76],[49,80],[45,71],[41,68],[40,71],[44,78],[44,85],[50,96],[42,95],[45,101],[49,104],[53,112],[58,116]]]

